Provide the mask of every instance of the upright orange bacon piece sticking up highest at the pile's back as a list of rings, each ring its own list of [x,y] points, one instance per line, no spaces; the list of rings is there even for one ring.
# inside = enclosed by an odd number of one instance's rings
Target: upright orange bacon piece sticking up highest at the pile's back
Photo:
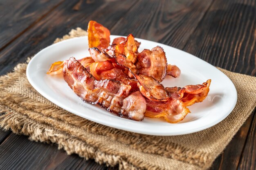
[[[97,47],[98,49],[108,48],[110,45],[110,31],[96,21],[88,23],[88,42],[89,48]]]

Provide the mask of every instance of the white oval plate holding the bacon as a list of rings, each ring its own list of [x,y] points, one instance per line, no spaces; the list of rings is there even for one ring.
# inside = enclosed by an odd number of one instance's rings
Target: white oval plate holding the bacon
[[[116,37],[118,36],[111,36],[111,40]],[[81,101],[60,76],[46,74],[51,64],[56,61],[90,56],[87,36],[64,40],[38,52],[27,66],[27,78],[40,94],[69,112],[103,125],[141,134],[180,135],[198,132],[219,123],[234,109],[237,100],[236,88],[225,74],[204,60],[179,49],[136,39],[141,42],[139,51],[159,45],[166,52],[168,64],[177,65],[181,69],[179,78],[168,76],[162,82],[165,87],[183,87],[201,84],[207,79],[212,80],[207,98],[202,103],[189,106],[191,113],[183,121],[171,124],[162,118],[144,118],[143,121],[120,118],[97,105]]]

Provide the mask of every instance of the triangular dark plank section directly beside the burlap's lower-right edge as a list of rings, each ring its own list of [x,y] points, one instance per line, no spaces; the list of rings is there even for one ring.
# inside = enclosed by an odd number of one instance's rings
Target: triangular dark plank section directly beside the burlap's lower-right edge
[[[254,114],[249,116],[245,121],[243,126],[227,145],[226,149],[213,162],[210,170],[237,169],[249,133],[250,125],[253,121],[253,116]]]

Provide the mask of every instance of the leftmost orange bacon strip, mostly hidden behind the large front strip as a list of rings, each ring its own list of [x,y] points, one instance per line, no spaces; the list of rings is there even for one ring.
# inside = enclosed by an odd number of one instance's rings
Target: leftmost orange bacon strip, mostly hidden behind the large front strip
[[[83,67],[88,69],[88,71],[90,72],[90,68],[89,68],[90,64],[94,62],[94,60],[91,57],[85,57],[78,61],[81,63],[81,65],[83,65]],[[63,61],[57,61],[55,63],[52,63],[47,74],[50,74],[50,75],[61,74],[62,69],[63,69]]]

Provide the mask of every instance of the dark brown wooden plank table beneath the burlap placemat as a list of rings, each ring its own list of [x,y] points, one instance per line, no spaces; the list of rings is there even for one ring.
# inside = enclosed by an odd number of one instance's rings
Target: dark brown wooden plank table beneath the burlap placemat
[[[89,20],[256,75],[255,0],[0,0],[0,75]],[[177,56],[174,56],[177,57]],[[117,169],[0,130],[0,169]],[[211,169],[256,169],[256,114]]]

